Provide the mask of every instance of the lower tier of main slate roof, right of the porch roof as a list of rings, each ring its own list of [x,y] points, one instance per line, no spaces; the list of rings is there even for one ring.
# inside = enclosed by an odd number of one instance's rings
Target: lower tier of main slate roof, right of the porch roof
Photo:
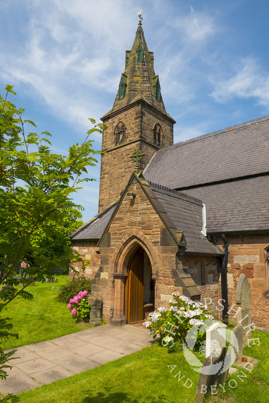
[[[207,209],[207,232],[269,231],[269,175],[188,189]]]

